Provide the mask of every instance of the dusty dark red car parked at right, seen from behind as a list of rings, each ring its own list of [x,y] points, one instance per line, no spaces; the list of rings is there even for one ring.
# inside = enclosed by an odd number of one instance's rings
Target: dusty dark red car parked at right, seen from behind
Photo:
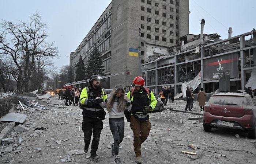
[[[256,106],[247,93],[215,93],[204,107],[204,131],[223,127],[241,129],[255,138]]]

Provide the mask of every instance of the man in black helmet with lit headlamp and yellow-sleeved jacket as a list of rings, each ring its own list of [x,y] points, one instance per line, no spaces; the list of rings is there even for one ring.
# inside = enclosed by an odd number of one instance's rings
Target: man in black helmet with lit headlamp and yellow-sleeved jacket
[[[84,152],[87,153],[91,142],[91,135],[93,134],[93,141],[91,143],[91,159],[97,160],[99,156],[96,154],[99,145],[99,137],[103,129],[102,120],[105,119],[105,111],[107,95],[100,86],[100,76],[92,75],[90,80],[90,87],[84,87],[80,94],[80,108],[83,109],[83,123],[82,129],[84,132]]]

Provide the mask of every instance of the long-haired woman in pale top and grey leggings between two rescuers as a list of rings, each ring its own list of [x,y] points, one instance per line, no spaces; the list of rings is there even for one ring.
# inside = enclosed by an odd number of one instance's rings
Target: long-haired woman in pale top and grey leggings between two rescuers
[[[114,137],[111,145],[112,155],[115,156],[115,163],[120,164],[119,144],[124,139],[124,110],[131,110],[131,101],[125,95],[124,87],[116,85],[108,96],[106,104],[109,112],[109,127]]]

